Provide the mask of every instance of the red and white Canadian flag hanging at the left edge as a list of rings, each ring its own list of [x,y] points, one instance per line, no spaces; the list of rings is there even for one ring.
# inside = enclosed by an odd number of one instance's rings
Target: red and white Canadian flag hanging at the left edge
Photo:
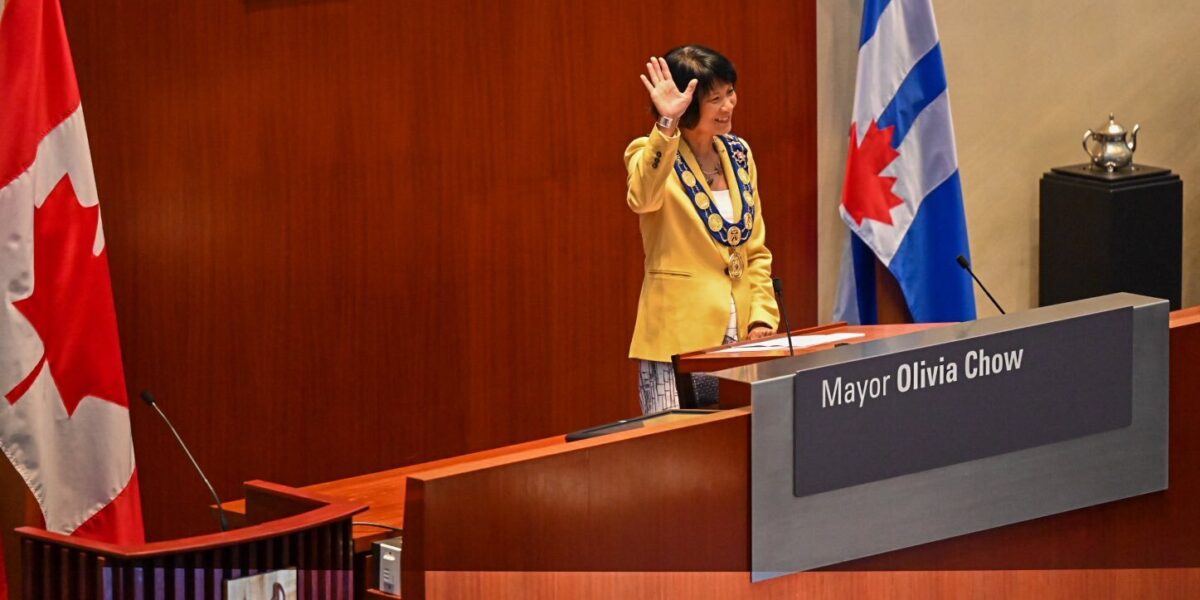
[[[140,542],[108,253],[62,11],[59,0],[0,6],[0,450],[47,529]]]

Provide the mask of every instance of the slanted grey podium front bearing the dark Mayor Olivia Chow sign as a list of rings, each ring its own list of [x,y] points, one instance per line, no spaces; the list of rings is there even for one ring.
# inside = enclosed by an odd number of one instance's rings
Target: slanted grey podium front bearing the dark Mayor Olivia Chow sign
[[[754,408],[751,571],[919,554],[1163,492],[1168,348],[1165,300],[1111,294],[722,372]],[[1158,533],[1126,546],[1175,538]],[[1069,554],[988,564],[1117,552]]]

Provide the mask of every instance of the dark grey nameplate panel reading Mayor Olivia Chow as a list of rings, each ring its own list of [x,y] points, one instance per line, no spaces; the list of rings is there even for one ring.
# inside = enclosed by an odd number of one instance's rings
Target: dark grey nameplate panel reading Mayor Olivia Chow
[[[793,494],[1128,427],[1132,354],[1120,308],[802,371]]]

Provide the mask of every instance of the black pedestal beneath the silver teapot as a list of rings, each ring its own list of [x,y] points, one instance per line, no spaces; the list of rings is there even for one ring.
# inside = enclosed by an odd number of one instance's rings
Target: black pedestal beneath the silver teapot
[[[1051,169],[1042,178],[1038,238],[1039,306],[1132,292],[1180,308],[1183,181],[1169,169]]]

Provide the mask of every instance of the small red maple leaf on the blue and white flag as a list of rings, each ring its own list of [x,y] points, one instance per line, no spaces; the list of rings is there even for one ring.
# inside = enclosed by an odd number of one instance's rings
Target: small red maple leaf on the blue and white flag
[[[895,125],[881,130],[875,121],[868,126],[863,143],[858,143],[858,124],[850,126],[850,157],[846,160],[846,185],[842,186],[841,205],[854,220],[864,218],[892,224],[892,208],[904,204],[892,193],[896,178],[880,175],[900,152],[892,148]]]

